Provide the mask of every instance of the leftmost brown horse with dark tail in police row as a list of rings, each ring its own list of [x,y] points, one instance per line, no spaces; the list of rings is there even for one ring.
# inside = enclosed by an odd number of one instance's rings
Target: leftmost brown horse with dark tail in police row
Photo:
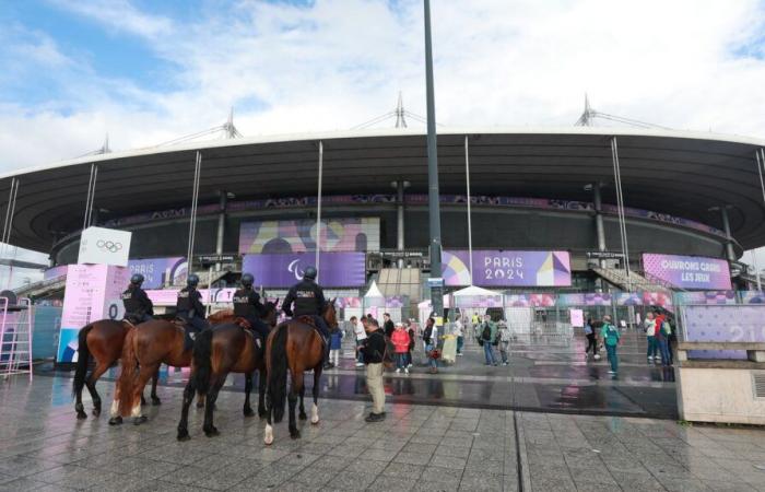
[[[101,396],[95,389],[95,384],[98,378],[108,371],[111,365],[119,360],[122,353],[125,337],[133,326],[115,319],[102,319],[91,323],[83,327],[78,335],[78,361],[76,370],[74,371],[74,382],[72,384],[72,393],[76,399],[74,410],[78,419],[87,419],[85,408],[82,405],[82,388],[87,387],[87,391],[93,398],[93,414],[101,415]],[[87,366],[91,359],[95,360],[95,366],[87,375]],[[156,396],[156,382],[158,374],[152,375],[152,405],[160,405],[160,398]],[[143,396],[141,396],[143,400]]]

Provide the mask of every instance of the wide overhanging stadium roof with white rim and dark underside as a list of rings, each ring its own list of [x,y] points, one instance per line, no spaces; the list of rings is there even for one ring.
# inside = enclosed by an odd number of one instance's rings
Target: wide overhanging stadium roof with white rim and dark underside
[[[613,183],[610,138],[619,141],[625,207],[669,213],[721,227],[715,207],[728,204],[734,238],[765,245],[765,207],[755,150],[765,140],[668,130],[449,128],[438,134],[440,190],[464,192],[464,136],[470,137],[475,195],[591,200],[584,186]],[[424,130],[386,129],[243,138],[90,155],[0,176],[5,209],[20,179],[11,243],[49,250],[54,232],[83,222],[90,164],[98,164],[95,208],[108,216],[189,204],[195,154],[202,153],[199,203],[219,190],[237,199],[314,195],[318,142],[323,142],[323,194],[391,192],[409,180],[427,191]],[[615,203],[613,186],[603,201]]]

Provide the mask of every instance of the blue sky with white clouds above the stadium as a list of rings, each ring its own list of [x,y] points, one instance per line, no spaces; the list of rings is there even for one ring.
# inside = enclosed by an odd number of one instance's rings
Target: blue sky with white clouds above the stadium
[[[765,137],[765,4],[433,0],[448,126],[569,126],[601,112]],[[165,142],[424,115],[420,0],[0,0],[0,173]],[[414,121],[412,121],[414,124]],[[391,125],[392,121],[386,122]],[[765,266],[765,256],[762,258]]]

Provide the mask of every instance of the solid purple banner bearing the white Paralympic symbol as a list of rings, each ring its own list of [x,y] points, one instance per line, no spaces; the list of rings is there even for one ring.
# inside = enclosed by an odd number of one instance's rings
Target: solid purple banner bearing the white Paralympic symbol
[[[364,253],[321,253],[319,283],[326,288],[352,288],[366,283]],[[266,288],[290,288],[303,278],[303,271],[316,263],[315,253],[284,255],[245,255],[242,269],[255,276]]]

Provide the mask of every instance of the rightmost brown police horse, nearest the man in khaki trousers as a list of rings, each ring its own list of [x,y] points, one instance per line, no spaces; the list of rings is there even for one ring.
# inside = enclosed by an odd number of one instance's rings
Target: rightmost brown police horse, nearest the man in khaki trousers
[[[338,326],[334,300],[322,307],[322,317],[330,328]],[[303,406],[305,386],[303,373],[314,370],[314,405],[310,411],[310,423],[319,423],[319,379],[321,377],[323,341],[319,332],[304,318],[291,319],[278,326],[266,342],[266,371],[268,374],[266,433],[263,442],[273,443],[271,419],[279,423],[284,418],[284,400],[290,401],[290,436],[296,440],[301,436],[295,423],[295,403],[301,398],[299,418],[306,420]],[[287,370],[292,377],[290,394],[286,395]]]

